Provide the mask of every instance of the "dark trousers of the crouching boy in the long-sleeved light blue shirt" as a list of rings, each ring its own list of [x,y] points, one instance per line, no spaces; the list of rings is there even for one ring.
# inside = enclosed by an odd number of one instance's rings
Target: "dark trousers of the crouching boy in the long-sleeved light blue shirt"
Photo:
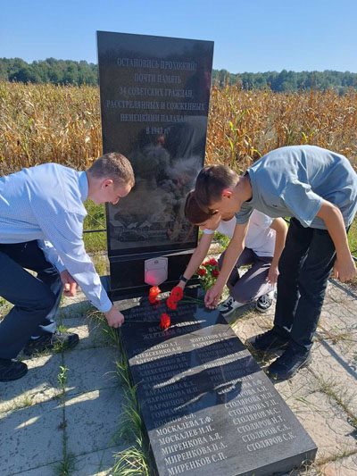
[[[40,326],[53,322],[61,295],[60,275],[36,240],[0,244],[0,296],[13,304],[0,322],[0,358],[16,357],[31,336],[46,333]]]

